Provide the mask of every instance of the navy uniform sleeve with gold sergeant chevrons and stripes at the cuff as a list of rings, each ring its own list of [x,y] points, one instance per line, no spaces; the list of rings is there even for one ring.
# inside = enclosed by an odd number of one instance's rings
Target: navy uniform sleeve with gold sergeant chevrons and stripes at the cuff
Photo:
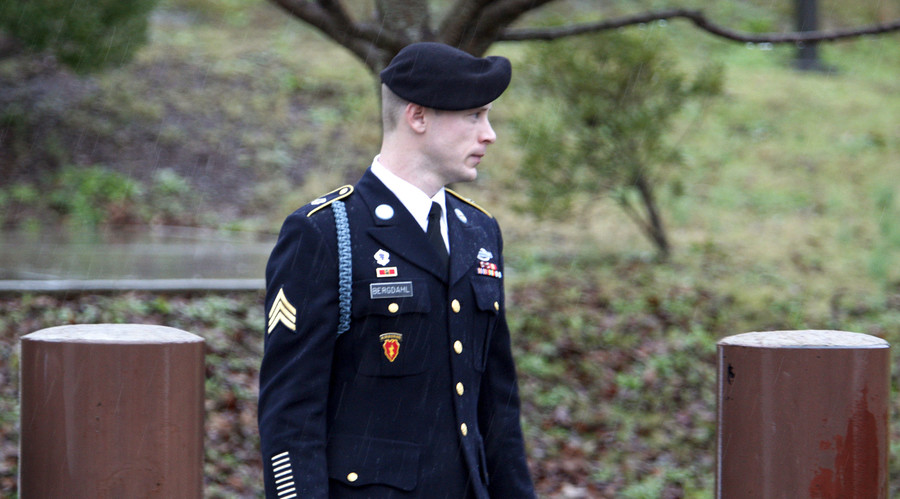
[[[334,229],[323,226],[302,212],[288,217],[266,267],[258,413],[269,499],[328,497],[326,413],[339,312]]]

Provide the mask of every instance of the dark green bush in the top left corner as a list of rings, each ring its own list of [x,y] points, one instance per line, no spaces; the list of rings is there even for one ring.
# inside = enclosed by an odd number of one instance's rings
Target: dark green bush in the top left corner
[[[84,73],[130,60],[147,39],[147,17],[157,1],[3,1],[0,30]]]

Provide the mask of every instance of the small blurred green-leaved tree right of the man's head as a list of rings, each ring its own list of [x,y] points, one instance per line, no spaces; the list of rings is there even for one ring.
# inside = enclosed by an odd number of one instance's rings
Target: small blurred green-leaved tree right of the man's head
[[[677,164],[666,140],[690,99],[718,94],[722,68],[707,65],[693,81],[665,43],[647,30],[605,33],[531,47],[526,80],[541,110],[517,120],[525,151],[526,208],[541,216],[572,212],[611,193],[660,256],[670,244],[656,186]]]

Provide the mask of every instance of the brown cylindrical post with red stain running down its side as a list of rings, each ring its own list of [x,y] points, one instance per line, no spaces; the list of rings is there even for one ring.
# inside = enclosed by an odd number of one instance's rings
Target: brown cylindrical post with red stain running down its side
[[[888,497],[890,345],[843,331],[719,342],[716,497]]]

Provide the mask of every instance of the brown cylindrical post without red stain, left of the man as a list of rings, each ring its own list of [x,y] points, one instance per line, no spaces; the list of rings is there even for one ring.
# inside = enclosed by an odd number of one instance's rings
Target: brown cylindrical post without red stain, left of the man
[[[19,497],[199,499],[203,350],[151,325],[23,336]]]

